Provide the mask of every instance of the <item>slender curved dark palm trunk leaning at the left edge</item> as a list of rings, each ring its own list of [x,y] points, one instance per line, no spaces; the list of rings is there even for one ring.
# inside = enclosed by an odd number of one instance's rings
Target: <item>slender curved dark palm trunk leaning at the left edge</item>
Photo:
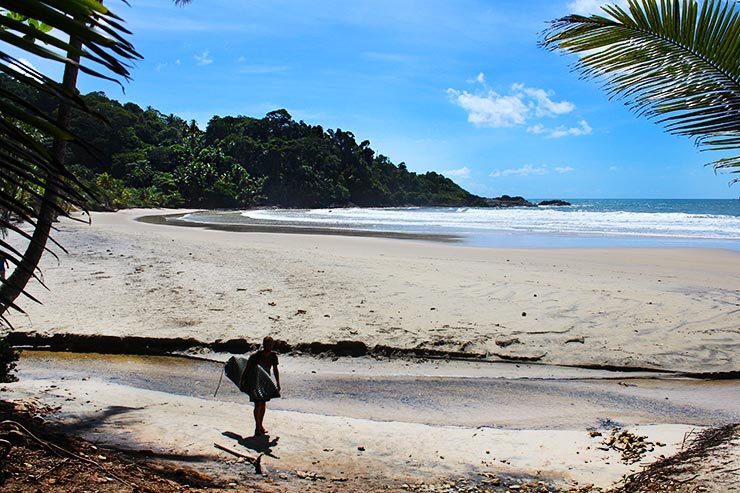
[[[70,37],[70,44],[80,49],[82,43]],[[79,55],[67,54],[67,58],[72,60],[74,63],[67,63],[64,67],[64,78],[62,79],[62,87],[65,91],[69,91],[71,94],[77,90],[77,75],[79,74]],[[69,129],[70,122],[72,120],[72,104],[67,101],[61,101],[59,103],[59,111],[57,115],[57,125],[65,130]],[[64,155],[67,151],[67,141],[60,138],[55,138],[52,144],[51,158],[55,164],[55,168],[62,169],[64,167]],[[26,247],[26,251],[23,254],[20,262],[16,265],[13,273],[5,280],[0,286],[0,316],[2,316],[18,296],[23,293],[28,281],[33,277],[34,272],[38,269],[39,261],[41,256],[46,250],[46,240],[49,238],[51,232],[51,225],[56,218],[56,208],[58,202],[58,189],[59,189],[59,175],[49,173],[46,177],[46,186],[44,189],[44,199],[41,202],[39,208],[39,214],[36,221],[36,228],[33,231],[31,241]]]

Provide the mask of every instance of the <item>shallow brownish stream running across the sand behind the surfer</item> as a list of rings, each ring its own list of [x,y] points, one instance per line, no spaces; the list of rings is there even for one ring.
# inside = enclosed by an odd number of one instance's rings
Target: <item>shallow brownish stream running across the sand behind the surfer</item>
[[[215,355],[225,359],[228,355]],[[101,380],[244,402],[223,364],[165,356],[24,351],[22,380]],[[546,365],[281,356],[274,409],[376,421],[510,429],[719,425],[740,421],[740,381],[665,378]]]

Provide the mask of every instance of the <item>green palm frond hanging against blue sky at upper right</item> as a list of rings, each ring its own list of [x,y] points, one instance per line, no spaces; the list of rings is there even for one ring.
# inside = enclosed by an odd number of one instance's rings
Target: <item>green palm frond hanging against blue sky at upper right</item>
[[[740,148],[740,8],[730,0],[629,0],[608,16],[569,15],[551,23],[541,45],[580,55],[584,78],[610,97],[703,150]],[[740,173],[740,156],[715,160]],[[739,179],[733,182],[740,181]]]

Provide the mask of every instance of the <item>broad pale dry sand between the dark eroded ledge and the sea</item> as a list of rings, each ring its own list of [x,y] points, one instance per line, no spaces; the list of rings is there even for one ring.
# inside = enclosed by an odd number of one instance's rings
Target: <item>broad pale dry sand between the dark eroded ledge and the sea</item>
[[[740,369],[740,253],[469,248],[429,241],[62,220],[69,251],[16,330],[362,341],[549,364]],[[498,355],[498,356],[497,356]]]

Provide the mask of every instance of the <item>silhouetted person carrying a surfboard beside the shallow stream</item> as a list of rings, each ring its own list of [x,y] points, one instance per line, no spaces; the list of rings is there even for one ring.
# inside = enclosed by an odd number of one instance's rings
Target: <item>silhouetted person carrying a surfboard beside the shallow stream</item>
[[[247,360],[245,375],[251,379],[249,400],[254,402],[254,436],[266,435],[263,426],[267,401],[280,397],[280,372],[278,371],[278,356],[273,347],[275,341],[267,336],[262,341],[262,348],[252,354]],[[270,379],[270,373],[275,376],[275,382]]]

